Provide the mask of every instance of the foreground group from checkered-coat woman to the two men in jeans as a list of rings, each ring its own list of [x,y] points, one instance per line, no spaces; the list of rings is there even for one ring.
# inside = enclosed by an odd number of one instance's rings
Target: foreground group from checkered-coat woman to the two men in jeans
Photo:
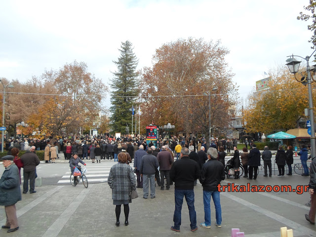
[[[137,174],[135,179],[133,169],[127,163],[127,156],[124,152],[118,154],[118,163],[113,165],[108,177],[108,184],[112,189],[113,204],[116,205],[116,226],[119,226],[119,216],[121,205],[124,206],[125,225],[128,225],[129,203],[131,203],[130,193],[136,188],[143,188],[143,198],[147,199],[156,197],[156,182],[160,186],[160,190],[164,190],[164,178],[166,178],[166,190],[170,185],[175,188],[175,210],[173,215],[174,225],[171,230],[180,232],[181,225],[181,209],[183,198],[186,198],[191,231],[197,230],[197,213],[194,206],[194,186],[197,185],[197,179],[203,187],[203,203],[204,203],[204,222],[199,226],[203,228],[211,227],[211,210],[210,199],[213,198],[216,210],[217,227],[221,227],[222,213],[220,205],[220,197],[217,185],[221,180],[225,179],[224,165],[217,160],[217,150],[209,148],[207,154],[204,147],[197,154],[197,160],[190,157],[190,152],[186,147],[181,148],[180,159],[174,161],[173,152],[168,145],[163,145],[161,151],[155,146],[148,147],[147,151],[144,146],[140,145],[135,152],[134,168]],[[128,154],[128,153],[127,153]],[[197,162],[200,159],[199,162]],[[208,160],[208,162],[206,162]],[[206,162],[206,163],[205,163]],[[158,169],[159,167],[159,169]],[[160,173],[160,177],[159,174]],[[149,189],[150,186],[150,189]]]

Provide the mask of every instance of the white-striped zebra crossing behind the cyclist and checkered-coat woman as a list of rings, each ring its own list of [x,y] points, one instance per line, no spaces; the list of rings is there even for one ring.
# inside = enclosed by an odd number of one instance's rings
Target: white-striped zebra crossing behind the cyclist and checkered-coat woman
[[[117,162],[114,162],[113,160],[101,160],[101,163],[92,163],[90,160],[85,160],[87,172],[85,173],[85,176],[88,179],[89,183],[102,183],[107,182],[110,169],[113,165],[115,165]],[[80,164],[81,165],[81,164]],[[82,165],[81,165],[82,166]],[[133,167],[133,163],[130,164],[131,167]],[[58,184],[67,184],[70,183],[70,168],[69,170],[61,177],[60,180],[58,180]],[[136,175],[136,174],[135,174]]]

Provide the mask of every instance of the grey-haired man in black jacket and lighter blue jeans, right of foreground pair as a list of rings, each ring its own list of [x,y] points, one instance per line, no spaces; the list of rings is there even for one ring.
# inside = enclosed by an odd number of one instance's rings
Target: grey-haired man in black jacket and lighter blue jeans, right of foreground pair
[[[225,179],[224,165],[217,160],[217,150],[210,147],[207,150],[208,161],[203,164],[199,182],[203,187],[204,222],[201,227],[211,228],[211,197],[215,205],[217,227],[222,227],[222,209],[218,185]]]

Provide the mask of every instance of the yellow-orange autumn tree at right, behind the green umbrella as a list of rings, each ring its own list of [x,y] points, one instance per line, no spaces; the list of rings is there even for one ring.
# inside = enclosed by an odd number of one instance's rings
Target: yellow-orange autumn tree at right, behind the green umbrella
[[[305,118],[308,108],[308,88],[297,82],[285,66],[269,72],[269,89],[249,96],[249,105],[243,111],[247,132],[266,134],[296,128]],[[315,93],[313,100],[316,101]]]

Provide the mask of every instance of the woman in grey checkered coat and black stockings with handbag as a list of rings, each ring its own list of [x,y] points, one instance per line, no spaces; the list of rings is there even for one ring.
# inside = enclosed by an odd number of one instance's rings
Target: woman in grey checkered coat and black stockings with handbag
[[[125,226],[128,225],[129,206],[132,200],[129,194],[136,190],[136,179],[132,167],[126,164],[127,157],[121,152],[118,154],[118,163],[113,165],[108,177],[108,184],[112,189],[113,204],[116,205],[115,214],[117,216],[116,226],[119,226],[119,215],[121,204],[124,205]]]

